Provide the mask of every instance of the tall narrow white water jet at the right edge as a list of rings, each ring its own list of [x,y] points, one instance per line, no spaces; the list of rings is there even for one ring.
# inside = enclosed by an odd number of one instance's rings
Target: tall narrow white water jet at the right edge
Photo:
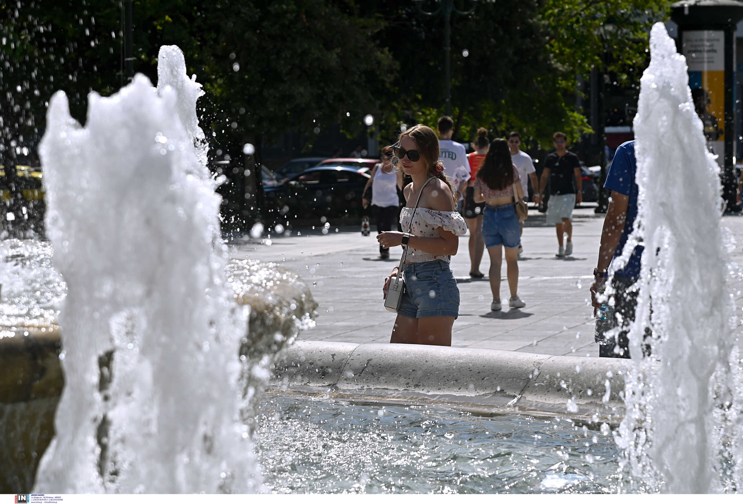
[[[650,52],[635,117],[638,214],[623,260],[637,243],[645,252],[617,444],[632,476],[660,491],[740,491],[743,385],[727,286],[736,266],[720,229],[719,167],[686,59],[661,23]],[[652,356],[643,357],[645,344]]]

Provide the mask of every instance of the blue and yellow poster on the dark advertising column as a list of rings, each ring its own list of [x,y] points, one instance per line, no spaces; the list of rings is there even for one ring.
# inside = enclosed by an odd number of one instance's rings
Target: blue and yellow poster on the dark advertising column
[[[687,58],[689,87],[694,108],[704,125],[710,151],[725,159],[725,32],[723,30],[684,31],[681,39]]]

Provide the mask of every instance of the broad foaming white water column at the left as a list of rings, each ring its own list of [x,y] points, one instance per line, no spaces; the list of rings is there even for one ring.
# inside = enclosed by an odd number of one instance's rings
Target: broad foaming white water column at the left
[[[255,491],[220,197],[181,51],[89,96],[85,128],[61,91],[41,144],[66,386],[35,492]]]

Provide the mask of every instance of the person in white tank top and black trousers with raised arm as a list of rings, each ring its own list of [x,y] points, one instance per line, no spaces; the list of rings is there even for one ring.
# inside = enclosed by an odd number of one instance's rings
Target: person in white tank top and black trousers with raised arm
[[[363,191],[366,196],[366,189],[371,186],[371,201],[364,197],[362,204],[366,209],[371,203],[371,208],[374,209],[374,215],[377,217],[377,235],[392,231],[393,227],[398,229],[400,217],[398,185],[402,189],[402,178],[398,177],[398,171],[392,165],[392,156],[392,147],[382,149],[382,163],[377,163],[371,168],[371,177]],[[389,249],[380,245],[378,258],[389,259]]]

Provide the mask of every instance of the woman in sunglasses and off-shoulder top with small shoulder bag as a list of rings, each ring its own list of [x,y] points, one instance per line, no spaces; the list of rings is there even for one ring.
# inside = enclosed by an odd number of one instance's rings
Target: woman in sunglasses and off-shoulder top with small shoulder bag
[[[410,233],[377,235],[386,249],[403,242],[409,246],[403,265],[406,292],[389,342],[450,347],[452,325],[459,315],[459,289],[449,261],[457,253],[457,235],[464,235],[467,225],[454,211],[454,191],[438,161],[435,131],[421,124],[403,131],[395,155],[398,168],[412,177],[412,183],[405,187],[406,206],[400,212],[400,224]],[[415,209],[419,194],[421,200]],[[385,297],[390,278],[397,274],[395,267],[385,278]]]

